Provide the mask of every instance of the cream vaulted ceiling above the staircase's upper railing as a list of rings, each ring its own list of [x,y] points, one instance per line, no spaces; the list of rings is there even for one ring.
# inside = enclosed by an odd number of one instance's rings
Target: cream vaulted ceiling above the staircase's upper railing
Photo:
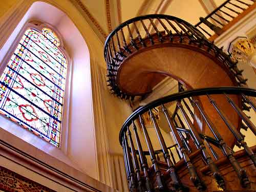
[[[74,0],[104,42],[126,20],[145,14],[167,14],[195,25],[225,0]]]

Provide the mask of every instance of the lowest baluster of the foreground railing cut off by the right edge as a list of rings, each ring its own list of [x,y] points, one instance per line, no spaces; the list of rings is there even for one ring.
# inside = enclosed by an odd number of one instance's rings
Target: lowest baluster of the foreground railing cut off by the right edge
[[[244,141],[244,137],[238,132],[238,130],[232,125],[232,123],[229,121],[229,119],[226,117],[226,115],[222,112],[222,110],[219,108],[217,103],[214,99],[212,99],[209,95],[207,95],[209,98],[210,103],[214,106],[216,111],[219,113],[225,124],[227,125],[230,132],[236,137],[237,141],[241,144],[241,146],[244,147],[244,150],[254,163],[254,166],[256,166],[256,158],[254,153],[252,152],[251,148],[248,147],[247,143]]]

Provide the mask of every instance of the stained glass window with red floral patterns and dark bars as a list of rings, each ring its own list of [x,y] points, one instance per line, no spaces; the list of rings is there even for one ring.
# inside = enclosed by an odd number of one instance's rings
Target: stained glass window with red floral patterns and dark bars
[[[0,77],[0,113],[59,147],[67,60],[59,39],[28,29]]]

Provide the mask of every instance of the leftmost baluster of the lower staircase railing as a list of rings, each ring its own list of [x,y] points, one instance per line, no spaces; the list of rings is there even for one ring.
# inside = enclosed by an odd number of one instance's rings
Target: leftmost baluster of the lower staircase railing
[[[125,146],[125,153],[126,153],[126,157],[127,157],[128,170],[129,170],[130,179],[131,179],[131,191],[136,192],[137,190],[136,190],[134,166],[133,166],[133,162],[132,162],[130,147],[128,145],[126,133],[124,133],[123,140],[124,140],[124,146]]]

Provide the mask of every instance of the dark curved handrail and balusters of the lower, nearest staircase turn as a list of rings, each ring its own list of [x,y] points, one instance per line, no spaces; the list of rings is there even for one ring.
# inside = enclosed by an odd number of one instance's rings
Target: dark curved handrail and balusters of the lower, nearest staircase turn
[[[232,133],[236,139],[236,142],[245,149],[245,153],[250,158],[254,166],[256,166],[255,154],[252,152],[251,148],[248,147],[244,140],[244,136],[239,130],[236,129],[236,127],[234,127],[226,114],[224,114],[220,108],[220,103],[217,103],[212,97],[212,95],[220,94],[226,97],[227,102],[230,103],[230,106],[232,106],[234,110],[233,112],[237,113],[242,118],[242,120],[248,126],[248,129],[250,129],[256,136],[255,125],[249,118],[247,118],[245,113],[240,110],[239,106],[237,106],[230,97],[230,95],[238,95],[239,97],[243,97],[243,99],[246,101],[245,105],[250,105],[251,110],[256,112],[256,106],[251,100],[252,97],[256,97],[256,90],[238,87],[207,88],[183,91],[157,99],[137,109],[129,118],[127,118],[119,134],[119,142],[123,147],[127,181],[131,191],[155,191],[156,189],[163,191],[167,190],[165,183],[166,179],[163,179],[164,174],[160,168],[162,163],[159,156],[163,158],[163,162],[166,166],[166,174],[169,175],[170,179],[172,180],[172,190],[186,191],[186,186],[181,183],[175,167],[176,163],[180,159],[184,160],[184,163],[186,164],[191,182],[199,190],[204,190],[206,186],[202,181],[202,178],[200,178],[198,175],[199,170],[197,170],[196,166],[191,162],[189,156],[189,154],[193,152],[191,149],[195,147],[196,150],[201,151],[199,156],[201,156],[205,164],[208,165],[210,172],[212,172],[216,182],[222,189],[225,189],[225,180],[215,164],[215,160],[219,159],[218,154],[215,151],[216,147],[219,148],[221,151],[220,153],[226,156],[229,160],[229,163],[232,165],[234,171],[240,179],[241,186],[244,188],[250,187],[249,177],[246,174],[245,169],[233,156],[233,151],[223,139],[224,136],[220,134],[216,125],[203,110],[197,97],[208,97],[209,103],[211,103],[216,112],[219,114],[220,119],[222,119],[227,125],[227,131],[229,130],[230,133]],[[184,109],[186,106],[184,102],[181,102],[182,100],[188,98],[191,100],[191,104],[193,104],[193,109],[197,109],[199,111],[203,121],[209,127],[212,135],[214,135],[214,138],[207,135],[202,135],[196,129],[195,122],[191,121],[191,118],[189,118],[189,110]],[[184,121],[182,121],[182,125],[175,122],[175,117],[172,116],[172,114],[170,114],[169,110],[166,108],[165,104],[169,102],[177,102],[177,110],[181,112],[182,118],[184,119]],[[166,146],[166,140],[162,135],[159,122],[157,122],[155,114],[152,113],[152,109],[157,107],[162,109],[162,113],[167,122],[166,126],[169,127],[169,131],[172,133],[175,139],[176,144],[174,146],[177,149],[176,155],[180,156],[179,158],[174,158],[174,154],[170,153],[170,148]],[[142,114],[144,113],[150,114],[156,133],[156,138],[153,138],[150,136],[150,134],[148,134],[148,129],[142,117]],[[139,123],[136,123],[137,121],[139,121]],[[141,130],[137,130],[138,125],[140,125]],[[139,132],[142,133],[139,134]],[[153,141],[156,139],[160,143],[161,151],[154,150]],[[143,150],[142,144],[144,144],[143,146],[146,145],[147,152]],[[150,156],[150,158],[147,158],[147,156]],[[155,174],[154,179],[152,178],[152,170],[154,170]],[[170,188],[168,188],[168,190],[169,189]]]

